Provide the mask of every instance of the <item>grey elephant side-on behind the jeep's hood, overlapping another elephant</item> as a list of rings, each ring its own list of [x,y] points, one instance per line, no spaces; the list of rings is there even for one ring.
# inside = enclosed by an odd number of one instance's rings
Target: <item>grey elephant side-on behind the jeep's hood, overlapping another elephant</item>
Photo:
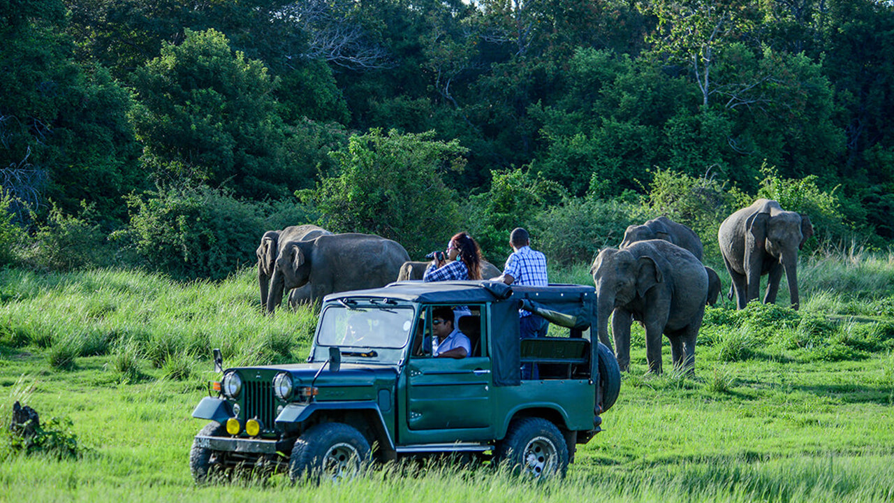
[[[324,234],[283,243],[276,257],[267,311],[283,301],[283,289],[308,286],[301,297],[316,303],[327,294],[391,283],[409,254],[400,243],[372,234]]]

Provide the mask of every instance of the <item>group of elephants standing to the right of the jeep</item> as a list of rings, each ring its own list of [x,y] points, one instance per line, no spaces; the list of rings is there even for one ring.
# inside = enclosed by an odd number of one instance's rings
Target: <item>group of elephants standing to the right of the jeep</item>
[[[755,200],[721,223],[717,233],[723,262],[732,279],[730,299],[742,309],[757,298],[761,276],[768,275],[764,303],[774,303],[782,272],[798,308],[797,251],[814,234],[810,217],[785,211],[775,200]],[[705,267],[696,233],[667,217],[628,226],[619,249],[601,252],[590,269],[596,286],[598,335],[611,347],[622,371],[630,365],[630,326],[645,328],[645,359],[650,372],[662,372],[662,334],[671,340],[676,369],[695,372],[696,337],[704,306],[716,302],[721,279]]]

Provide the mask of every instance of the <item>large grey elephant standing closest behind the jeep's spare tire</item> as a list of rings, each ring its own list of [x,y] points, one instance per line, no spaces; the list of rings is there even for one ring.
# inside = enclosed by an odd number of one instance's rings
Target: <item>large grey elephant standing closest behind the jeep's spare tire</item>
[[[645,327],[649,372],[662,373],[662,334],[671,339],[675,369],[694,375],[696,337],[702,327],[708,275],[691,252],[660,239],[599,252],[590,269],[596,286],[599,340],[611,348],[622,371],[630,366],[630,324]]]

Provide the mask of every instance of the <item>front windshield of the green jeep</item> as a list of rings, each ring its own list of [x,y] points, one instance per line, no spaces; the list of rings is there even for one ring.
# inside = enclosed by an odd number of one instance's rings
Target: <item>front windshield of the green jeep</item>
[[[320,314],[314,354],[317,347],[337,346],[346,361],[398,362],[413,320],[415,310],[410,304],[326,306]]]

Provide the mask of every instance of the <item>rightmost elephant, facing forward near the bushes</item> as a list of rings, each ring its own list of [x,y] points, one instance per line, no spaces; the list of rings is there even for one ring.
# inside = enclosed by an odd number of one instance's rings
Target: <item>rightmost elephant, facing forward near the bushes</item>
[[[797,310],[797,251],[812,235],[810,217],[786,211],[775,200],[755,200],[723,220],[717,240],[736,292],[737,308],[744,309],[757,298],[764,274],[768,280],[763,303],[775,303],[784,270],[791,307]]]

